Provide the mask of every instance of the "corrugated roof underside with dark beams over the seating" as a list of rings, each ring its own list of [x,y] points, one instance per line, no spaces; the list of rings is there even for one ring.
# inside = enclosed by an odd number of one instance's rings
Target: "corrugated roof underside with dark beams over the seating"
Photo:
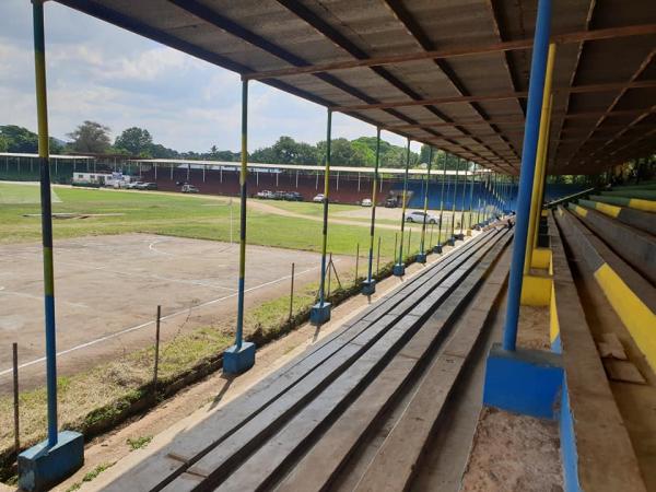
[[[537,0],[58,1],[485,167],[518,172]],[[653,152],[656,2],[553,0],[552,34],[569,40],[557,51],[549,173],[593,174]],[[354,60],[361,66],[344,68]],[[258,77],[325,63],[342,66]]]

